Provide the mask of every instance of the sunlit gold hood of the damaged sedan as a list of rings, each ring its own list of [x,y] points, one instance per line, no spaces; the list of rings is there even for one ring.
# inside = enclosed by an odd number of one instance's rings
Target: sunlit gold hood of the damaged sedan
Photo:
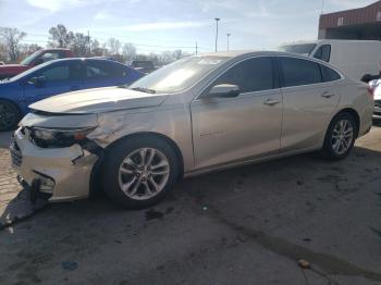
[[[165,95],[145,94],[119,87],[86,89],[62,94],[38,101],[30,109],[49,113],[103,113],[150,108],[161,104]]]

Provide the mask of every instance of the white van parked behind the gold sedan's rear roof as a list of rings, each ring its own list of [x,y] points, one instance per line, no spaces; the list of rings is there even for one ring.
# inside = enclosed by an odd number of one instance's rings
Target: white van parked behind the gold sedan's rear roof
[[[369,82],[380,75],[379,40],[322,39],[284,45],[280,50],[327,61],[355,79]]]

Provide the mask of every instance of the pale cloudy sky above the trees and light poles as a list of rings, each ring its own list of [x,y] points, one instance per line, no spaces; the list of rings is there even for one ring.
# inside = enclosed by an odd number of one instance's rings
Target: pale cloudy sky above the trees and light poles
[[[324,0],[323,12],[359,8],[376,0]],[[133,42],[138,52],[214,49],[214,17],[221,17],[219,50],[273,49],[316,39],[321,0],[0,0],[0,26],[25,30],[25,42],[45,46],[61,23],[99,41]]]

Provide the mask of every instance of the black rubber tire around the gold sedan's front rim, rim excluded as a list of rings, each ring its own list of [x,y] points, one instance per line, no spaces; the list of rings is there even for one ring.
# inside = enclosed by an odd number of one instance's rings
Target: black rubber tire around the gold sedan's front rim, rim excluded
[[[132,152],[142,148],[159,150],[169,162],[169,176],[165,186],[156,196],[138,200],[128,197],[120,186],[120,166],[124,159]],[[171,190],[179,176],[179,161],[175,151],[164,140],[156,136],[144,135],[125,138],[106,150],[105,161],[101,166],[101,183],[106,195],[115,203],[128,209],[144,209],[161,201]]]

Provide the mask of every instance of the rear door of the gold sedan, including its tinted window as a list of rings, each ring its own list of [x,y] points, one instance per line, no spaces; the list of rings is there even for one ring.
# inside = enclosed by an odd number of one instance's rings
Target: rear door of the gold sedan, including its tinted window
[[[322,73],[329,67],[315,61],[291,57],[278,59],[283,92],[281,151],[317,148],[340,101],[336,80],[323,78]],[[340,78],[336,73],[336,79]]]

